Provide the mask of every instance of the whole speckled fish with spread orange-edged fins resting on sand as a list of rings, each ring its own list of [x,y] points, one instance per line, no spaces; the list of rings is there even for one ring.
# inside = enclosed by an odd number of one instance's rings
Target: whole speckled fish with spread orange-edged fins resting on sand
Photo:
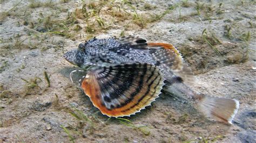
[[[79,85],[92,104],[109,117],[131,116],[160,94],[183,98],[205,116],[232,124],[239,101],[193,91],[194,74],[172,44],[147,42],[133,35],[92,38],[64,54],[83,70]],[[73,82],[73,81],[72,81]]]

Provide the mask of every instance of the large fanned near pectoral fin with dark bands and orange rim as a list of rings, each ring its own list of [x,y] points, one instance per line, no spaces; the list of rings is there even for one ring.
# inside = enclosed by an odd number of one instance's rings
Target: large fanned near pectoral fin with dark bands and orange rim
[[[156,66],[134,63],[91,69],[81,87],[104,115],[123,117],[149,106],[160,94],[163,81]]]

